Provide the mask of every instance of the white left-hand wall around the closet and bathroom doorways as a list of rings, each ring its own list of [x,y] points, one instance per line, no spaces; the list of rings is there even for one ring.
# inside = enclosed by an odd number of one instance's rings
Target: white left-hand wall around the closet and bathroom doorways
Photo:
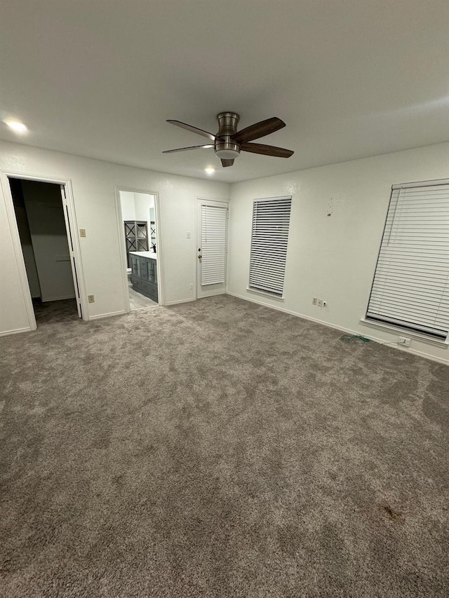
[[[11,203],[5,173],[54,179],[70,179],[76,228],[86,229],[80,238],[81,276],[85,294],[95,295],[87,304],[88,317],[122,313],[125,309],[121,227],[116,217],[115,186],[152,191],[159,195],[161,261],[165,276],[160,281],[164,303],[194,298],[190,283],[195,277],[195,197],[229,197],[229,184],[193,179],[81,158],[21,144],[0,142],[0,334],[29,328],[20,285],[21,258],[13,247],[15,222],[8,222],[6,202]],[[120,231],[120,232],[119,232]],[[86,299],[86,297],[84,298]]]

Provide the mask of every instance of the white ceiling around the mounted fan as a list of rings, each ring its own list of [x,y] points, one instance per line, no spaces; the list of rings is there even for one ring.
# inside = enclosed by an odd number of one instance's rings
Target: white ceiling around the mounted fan
[[[448,0],[15,0],[0,19],[4,140],[234,182],[449,140]],[[223,169],[217,132],[279,116]]]

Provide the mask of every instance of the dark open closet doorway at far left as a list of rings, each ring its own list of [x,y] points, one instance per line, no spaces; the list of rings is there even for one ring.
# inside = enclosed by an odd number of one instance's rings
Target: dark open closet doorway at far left
[[[8,177],[36,325],[81,318],[65,186]]]

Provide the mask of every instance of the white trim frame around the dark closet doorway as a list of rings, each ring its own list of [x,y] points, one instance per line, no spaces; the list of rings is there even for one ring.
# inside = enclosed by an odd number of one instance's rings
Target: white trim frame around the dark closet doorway
[[[22,287],[22,295],[25,301],[25,308],[27,310],[29,328],[31,330],[36,330],[36,316],[34,315],[34,308],[33,308],[33,301],[31,297],[31,291],[29,290],[29,283],[27,277],[27,269],[25,268],[25,259],[23,257],[22,252],[22,244],[20,243],[20,235],[19,229],[17,224],[17,219],[15,217],[15,210],[14,210],[14,202],[13,202],[13,194],[11,193],[11,186],[9,184],[9,179],[22,179],[26,181],[35,181],[39,183],[51,183],[57,184],[58,186],[63,186],[65,189],[65,201],[67,205],[67,211],[64,210],[65,213],[65,229],[67,233],[67,243],[70,243],[70,238],[72,237],[73,243],[73,253],[74,259],[76,261],[76,272],[74,271],[74,264],[72,259],[70,260],[72,266],[72,274],[74,276],[74,280],[78,283],[79,289],[79,299],[81,302],[81,312],[82,312],[82,319],[87,321],[88,320],[88,309],[87,309],[87,301],[86,301],[86,286],[84,284],[84,275],[83,275],[83,263],[81,261],[81,249],[79,245],[79,236],[78,236],[78,226],[76,224],[76,213],[75,213],[75,205],[73,201],[73,191],[72,191],[72,181],[71,179],[61,179],[61,178],[52,178],[52,177],[41,177],[39,175],[26,175],[23,172],[6,172],[4,170],[0,171],[0,185],[1,189],[4,193],[5,197],[5,205],[6,205],[6,216],[8,218],[9,229],[11,231],[11,238],[13,240],[13,249],[15,254],[15,261],[18,267],[18,273],[20,278],[20,285]],[[61,194],[61,203],[62,207],[64,208],[64,203],[62,201],[62,194]],[[66,219],[67,217],[67,219]],[[70,229],[67,229],[67,222],[70,226]],[[72,235],[71,235],[72,231]],[[74,232],[76,231],[76,234]],[[76,290],[75,290],[76,293]]]

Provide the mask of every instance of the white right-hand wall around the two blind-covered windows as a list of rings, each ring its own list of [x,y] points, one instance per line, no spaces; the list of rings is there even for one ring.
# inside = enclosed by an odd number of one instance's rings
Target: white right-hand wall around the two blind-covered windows
[[[272,158],[274,159],[274,158]],[[362,325],[391,185],[449,177],[449,144],[438,144],[232,185],[227,290],[356,334],[397,340]],[[285,301],[247,291],[253,200],[292,195]],[[328,217],[328,205],[333,214]],[[311,304],[312,297],[328,302]],[[448,349],[413,339],[410,351],[449,362]]]

